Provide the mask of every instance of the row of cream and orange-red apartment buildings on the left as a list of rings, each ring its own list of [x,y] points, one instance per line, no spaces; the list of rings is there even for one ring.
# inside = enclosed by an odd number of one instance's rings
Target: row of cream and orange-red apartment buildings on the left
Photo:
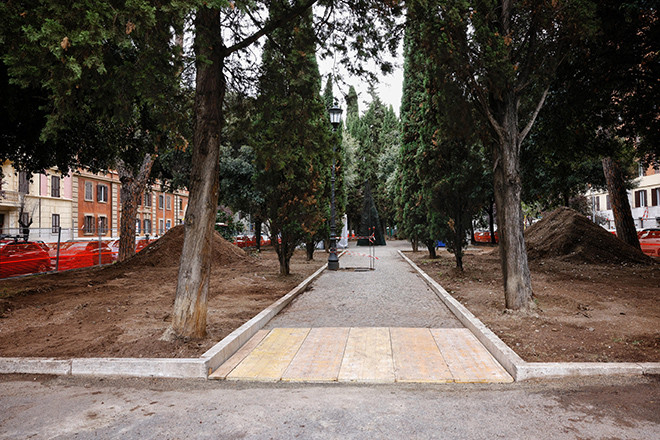
[[[0,234],[16,235],[30,225],[30,238],[57,241],[91,237],[116,238],[121,220],[121,182],[115,171],[91,173],[77,170],[62,175],[56,169],[28,175],[11,163],[2,166]],[[161,191],[153,185],[139,199],[135,229],[138,235],[160,236],[182,224],[188,191]]]

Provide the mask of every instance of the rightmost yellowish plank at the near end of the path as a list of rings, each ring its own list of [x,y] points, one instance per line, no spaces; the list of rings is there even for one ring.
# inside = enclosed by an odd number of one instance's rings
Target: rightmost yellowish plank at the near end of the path
[[[455,382],[513,382],[468,329],[431,329]]]

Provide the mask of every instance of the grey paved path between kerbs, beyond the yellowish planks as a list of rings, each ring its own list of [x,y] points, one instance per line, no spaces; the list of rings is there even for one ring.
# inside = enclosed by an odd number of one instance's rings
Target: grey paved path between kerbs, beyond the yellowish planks
[[[326,270],[266,328],[463,327],[397,253],[408,248],[402,241],[376,247],[373,271]],[[351,243],[340,267],[369,267],[368,252]],[[325,256],[321,252],[316,258]]]

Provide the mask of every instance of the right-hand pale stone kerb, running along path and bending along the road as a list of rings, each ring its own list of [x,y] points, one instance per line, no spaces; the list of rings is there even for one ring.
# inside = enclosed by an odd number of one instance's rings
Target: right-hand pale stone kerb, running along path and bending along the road
[[[399,255],[408,262],[426,284],[445,303],[459,321],[470,329],[495,359],[516,381],[565,376],[602,376],[660,374],[660,362],[527,362],[504,343],[463,304],[451,296],[440,284],[428,276],[403,252]]]

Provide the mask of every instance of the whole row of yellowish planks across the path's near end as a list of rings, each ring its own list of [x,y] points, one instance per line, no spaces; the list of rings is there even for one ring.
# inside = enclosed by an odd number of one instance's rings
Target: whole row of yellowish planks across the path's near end
[[[513,382],[464,328],[260,330],[209,379],[289,382]]]

